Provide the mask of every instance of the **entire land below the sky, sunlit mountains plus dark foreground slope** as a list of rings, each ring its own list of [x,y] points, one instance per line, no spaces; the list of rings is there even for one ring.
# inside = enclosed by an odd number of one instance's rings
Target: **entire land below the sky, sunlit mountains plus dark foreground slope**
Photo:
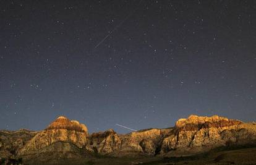
[[[0,131],[0,163],[23,164],[234,164],[256,163],[256,124],[191,115],[168,129],[119,135],[88,133],[58,117],[40,132]]]

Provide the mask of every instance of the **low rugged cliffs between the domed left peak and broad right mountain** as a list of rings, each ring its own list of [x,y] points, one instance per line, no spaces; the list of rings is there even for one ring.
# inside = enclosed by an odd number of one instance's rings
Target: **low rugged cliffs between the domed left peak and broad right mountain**
[[[161,139],[171,129],[148,129],[131,132],[126,135],[117,135],[114,130],[92,133],[90,147],[101,154],[114,156],[149,154],[155,155],[159,150]]]

